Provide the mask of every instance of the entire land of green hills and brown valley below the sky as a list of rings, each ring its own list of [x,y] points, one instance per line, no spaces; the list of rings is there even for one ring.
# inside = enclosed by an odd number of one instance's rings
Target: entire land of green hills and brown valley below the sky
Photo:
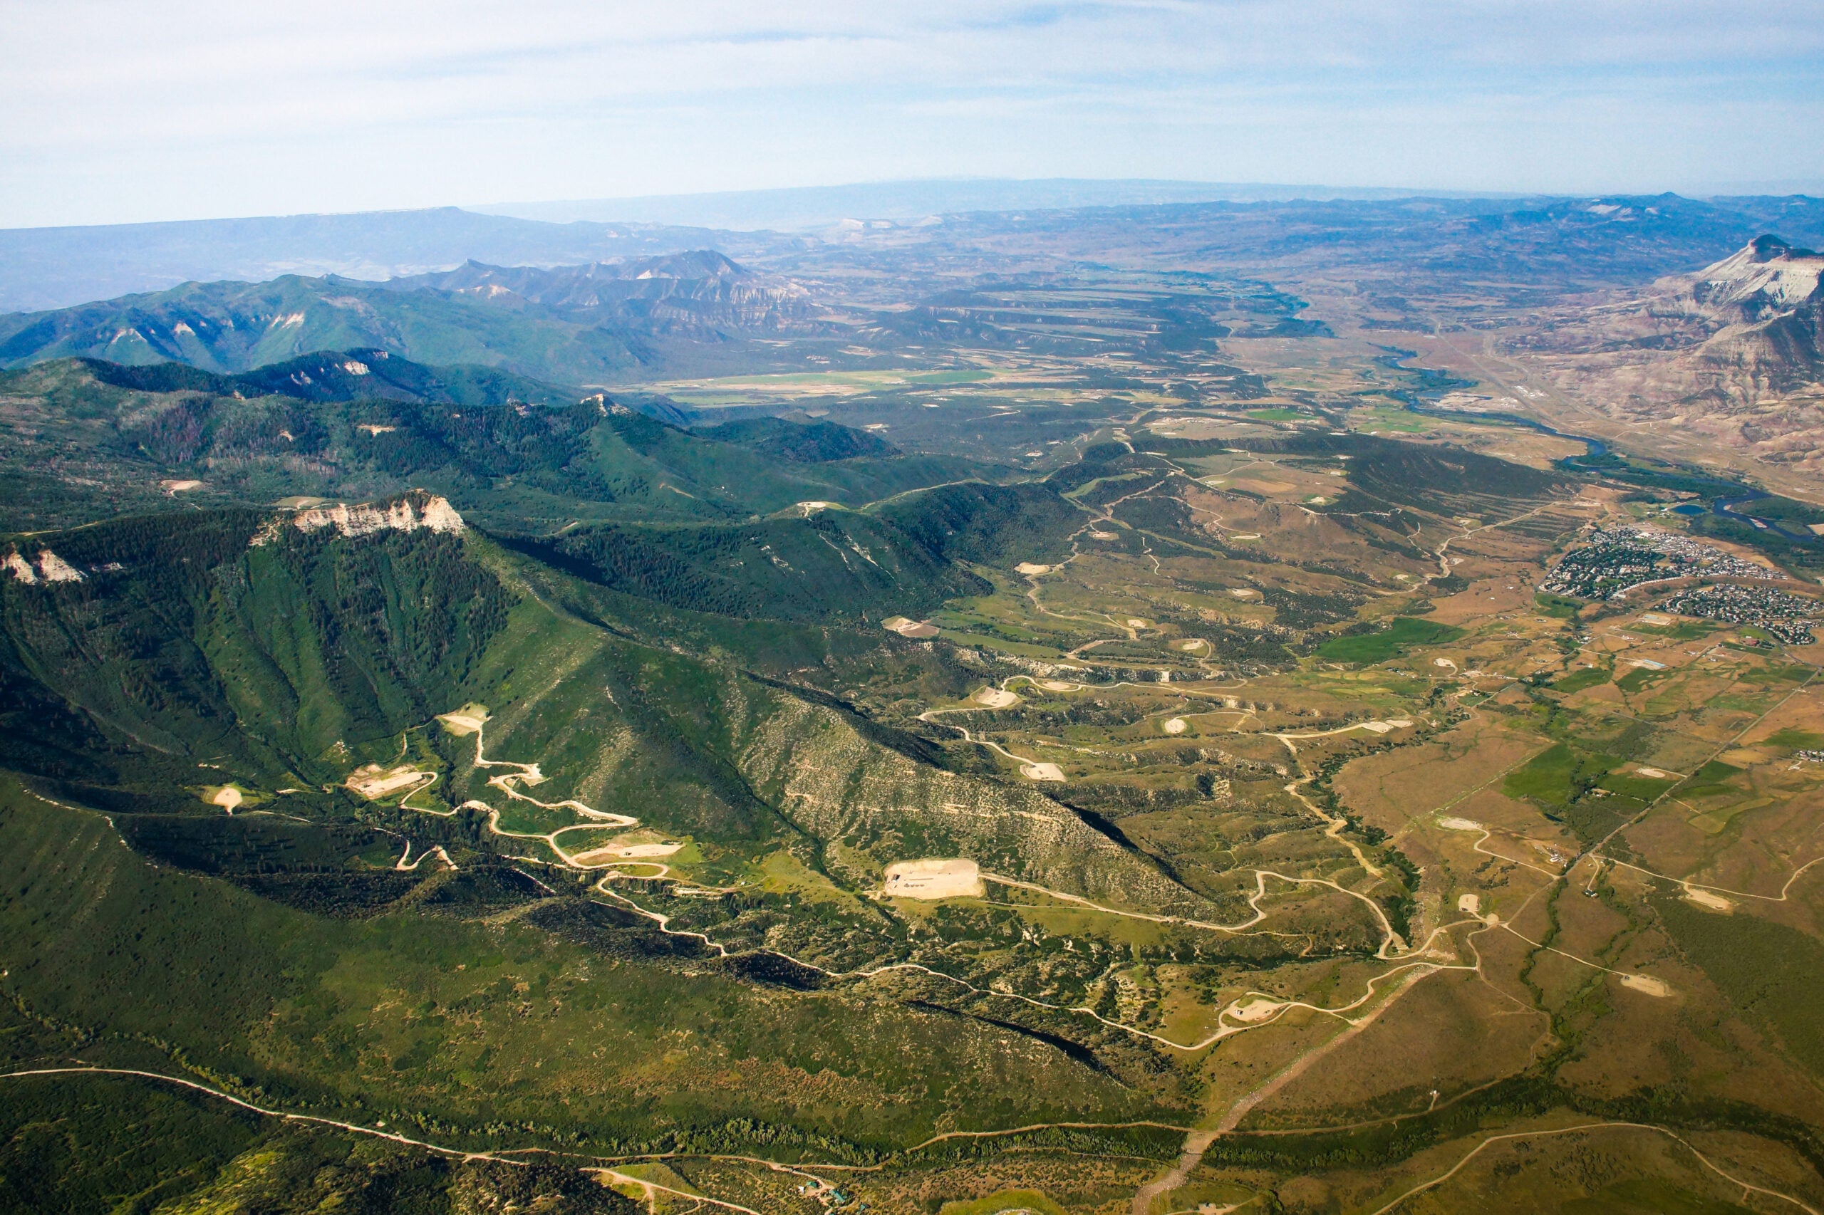
[[[1824,1210],[1820,237],[0,316],[0,1208]]]

